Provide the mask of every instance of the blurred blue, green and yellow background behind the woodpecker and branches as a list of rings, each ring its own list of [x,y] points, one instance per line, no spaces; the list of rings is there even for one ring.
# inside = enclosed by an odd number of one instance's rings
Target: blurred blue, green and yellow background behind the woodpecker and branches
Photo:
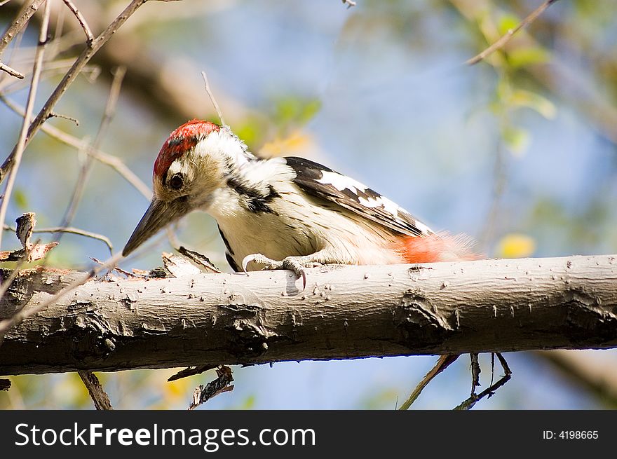
[[[16,3],[0,10],[2,28]],[[117,10],[122,3],[101,8]],[[218,2],[215,8],[200,0],[155,2],[150,12],[142,8],[131,18],[122,34],[168,70],[163,80],[171,77],[184,84],[185,64],[192,62],[199,81],[199,71],[208,67],[210,81],[229,101],[221,107],[226,122],[252,151],[310,156],[341,172],[357,173],[413,213],[426,215],[429,223],[485,235],[482,244],[495,247],[491,256],[614,253],[617,2],[556,2],[503,49],[474,67],[462,65],[539,4],[359,0],[346,10],[332,0]],[[57,42],[57,69],[44,75],[37,107],[79,52],[79,32]],[[8,50],[3,62],[10,62],[5,60],[10,56],[16,68],[27,69],[34,28],[21,40],[22,48]],[[113,47],[114,40],[107,46]],[[124,62],[126,82],[103,146],[149,184],[161,143],[186,116],[156,102],[162,93],[156,78],[155,83],[131,79],[132,63]],[[78,78],[57,106],[59,113],[79,118],[79,126],[64,119],[48,123],[78,138],[96,135],[110,72],[102,71],[98,78],[94,74]],[[0,76],[0,91],[21,104],[25,88],[27,81]],[[1,110],[0,149],[7,152],[20,120]],[[210,106],[195,107],[194,116],[208,110]],[[219,122],[212,114],[208,119]],[[37,135],[20,167],[7,223],[34,211],[39,226],[57,224],[76,181],[77,157],[64,144]],[[75,226],[109,235],[122,247],[147,205],[144,197],[98,163],[86,188]],[[184,219],[178,234],[187,245],[224,263],[222,242],[207,217]],[[46,237],[41,235],[45,242]],[[5,233],[6,245],[15,241]],[[168,246],[126,267],[158,266],[161,250]],[[105,259],[107,249],[66,235],[48,263],[83,268],[90,263],[88,256]],[[417,362],[372,359],[234,369],[233,392],[202,408],[391,409],[396,397],[409,391],[409,381],[426,372]],[[378,367],[381,371],[374,370]],[[332,368],[333,374],[327,374]],[[457,368],[440,377],[435,392],[423,395],[423,407],[460,402],[464,390],[452,395],[451,389],[468,387],[468,364]],[[525,366],[523,357],[513,369],[513,381],[484,406],[596,406],[556,376]],[[167,383],[174,372],[97,376],[116,408],[185,409],[193,388],[212,376],[209,372]],[[76,374],[16,376],[11,381],[13,388],[0,392],[0,408],[91,408]],[[542,387],[548,389],[540,392]],[[433,405],[427,402],[431,397]]]

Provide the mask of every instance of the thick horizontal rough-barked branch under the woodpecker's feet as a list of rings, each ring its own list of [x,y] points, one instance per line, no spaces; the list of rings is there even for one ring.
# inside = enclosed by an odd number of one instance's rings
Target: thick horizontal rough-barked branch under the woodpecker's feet
[[[617,256],[307,272],[91,281],[7,331],[0,374],[617,347]],[[22,271],[0,317],[81,275]]]

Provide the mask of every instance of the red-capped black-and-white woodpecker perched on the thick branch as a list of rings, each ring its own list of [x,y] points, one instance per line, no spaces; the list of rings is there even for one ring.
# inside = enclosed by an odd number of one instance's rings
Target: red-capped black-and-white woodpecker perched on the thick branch
[[[257,158],[226,126],[192,120],[174,130],[154,163],[154,198],[126,256],[193,210],[217,221],[235,271],[322,264],[477,259],[464,236],[435,233],[388,198],[311,160]]]

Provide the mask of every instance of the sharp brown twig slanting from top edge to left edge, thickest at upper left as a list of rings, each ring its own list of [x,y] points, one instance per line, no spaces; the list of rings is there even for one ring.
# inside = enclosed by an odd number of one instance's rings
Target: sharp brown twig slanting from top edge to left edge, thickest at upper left
[[[53,110],[53,107],[55,107],[55,104],[57,104],[58,100],[60,100],[60,97],[64,95],[69,86],[75,81],[77,76],[81,73],[83,67],[85,67],[86,64],[90,61],[90,59],[97,53],[97,51],[100,50],[100,48],[102,48],[102,46],[107,43],[107,41],[109,41],[109,39],[111,39],[114,34],[116,34],[118,29],[126,22],[126,20],[128,20],[128,18],[130,18],[130,16],[133,15],[133,13],[135,13],[135,11],[137,11],[137,9],[146,2],[147,0],[131,1],[130,4],[124,9],[124,11],[122,11],[122,13],[118,15],[116,20],[114,20],[114,22],[111,22],[111,24],[102,32],[102,34],[97,36],[97,38],[93,41],[92,46],[86,47],[86,49],[83,50],[81,55],[77,57],[72,67],[69,69],[69,71],[67,71],[65,76],[62,78],[62,81],[58,83],[53,93],[49,96],[47,102],[45,102],[43,108],[41,109],[41,111],[39,111],[39,114],[37,114],[36,118],[34,118],[34,121],[32,121],[32,124],[30,125],[27,132],[27,136],[23,146],[24,148],[29,144],[29,142],[32,141],[32,137],[34,137],[36,132],[39,131],[41,125],[43,125],[43,123],[46,121],[46,119],[49,117],[49,114]],[[16,152],[17,145],[13,148],[11,153],[4,160],[4,163],[0,167],[0,183],[1,181],[4,181],[4,178],[6,177],[8,172],[13,169]]]

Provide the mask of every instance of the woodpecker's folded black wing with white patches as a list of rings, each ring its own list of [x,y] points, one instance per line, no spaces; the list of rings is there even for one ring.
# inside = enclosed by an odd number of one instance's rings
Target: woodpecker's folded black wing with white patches
[[[296,172],[294,183],[311,196],[336,203],[398,233],[410,236],[433,234],[407,210],[359,181],[308,159],[287,156],[285,160]]]

